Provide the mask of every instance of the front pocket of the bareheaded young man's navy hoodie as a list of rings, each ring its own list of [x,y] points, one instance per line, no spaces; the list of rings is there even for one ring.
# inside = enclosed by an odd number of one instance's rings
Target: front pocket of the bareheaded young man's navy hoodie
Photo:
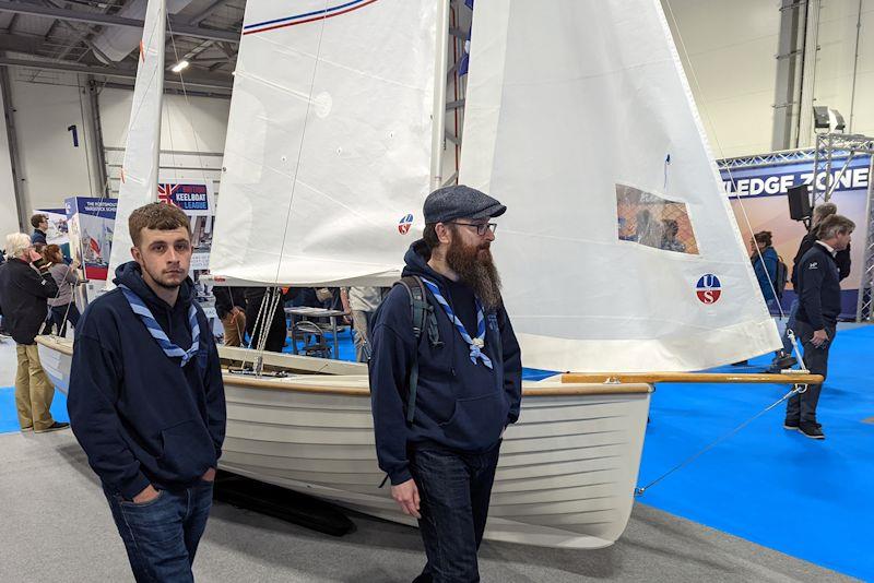
[[[161,431],[158,466],[173,481],[192,481],[215,464],[215,448],[203,421],[190,419]]]

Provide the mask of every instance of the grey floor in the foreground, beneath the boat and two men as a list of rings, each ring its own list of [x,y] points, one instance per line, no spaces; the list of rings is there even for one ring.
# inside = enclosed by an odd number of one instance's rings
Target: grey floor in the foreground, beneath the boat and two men
[[[109,510],[70,431],[0,436],[0,581],[132,581]],[[355,514],[333,538],[216,503],[194,563],[201,582],[403,582],[423,564],[418,533]],[[623,538],[594,550],[486,543],[483,581],[852,581],[637,505]]]

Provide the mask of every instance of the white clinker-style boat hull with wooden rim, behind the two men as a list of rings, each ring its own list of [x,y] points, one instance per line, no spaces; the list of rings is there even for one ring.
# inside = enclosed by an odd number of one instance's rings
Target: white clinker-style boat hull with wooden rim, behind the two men
[[[39,350],[46,373],[66,392],[70,357],[46,344]],[[389,487],[379,488],[385,474],[377,465],[365,376],[308,374],[251,384],[250,378],[225,376],[223,469],[414,524],[398,510]],[[625,530],[649,392],[638,385],[638,392],[606,388],[601,394],[571,394],[575,388],[598,389],[525,383],[532,394],[504,437],[487,539],[600,548]],[[533,394],[553,389],[567,394]]]

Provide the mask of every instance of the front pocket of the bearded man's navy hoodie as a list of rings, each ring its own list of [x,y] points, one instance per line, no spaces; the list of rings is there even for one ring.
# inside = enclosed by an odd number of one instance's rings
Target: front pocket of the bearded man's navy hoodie
[[[444,435],[460,449],[487,448],[500,438],[509,409],[498,392],[459,398],[452,417],[442,425]]]

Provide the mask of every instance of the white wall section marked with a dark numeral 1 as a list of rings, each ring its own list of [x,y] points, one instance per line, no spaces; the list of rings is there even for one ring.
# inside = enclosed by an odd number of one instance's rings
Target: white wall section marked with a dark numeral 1
[[[91,195],[81,92],[76,75],[28,71],[10,69],[21,187],[32,207],[60,207],[68,197]],[[67,130],[72,124],[79,147]]]

